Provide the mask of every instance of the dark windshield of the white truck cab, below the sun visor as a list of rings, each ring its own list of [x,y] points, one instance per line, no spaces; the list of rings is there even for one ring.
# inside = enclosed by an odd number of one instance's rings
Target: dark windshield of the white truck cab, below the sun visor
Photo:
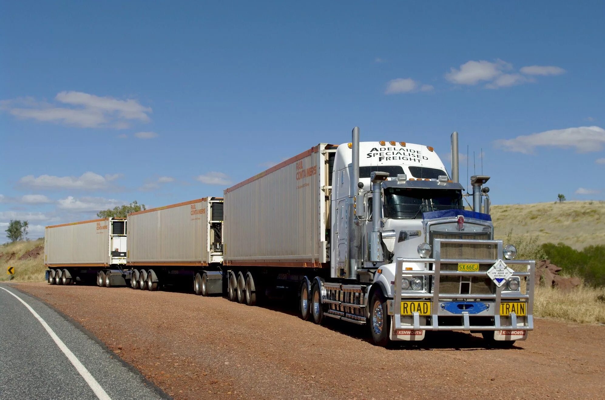
[[[423,212],[449,209],[463,209],[461,191],[417,188],[384,189],[385,218],[422,218]]]

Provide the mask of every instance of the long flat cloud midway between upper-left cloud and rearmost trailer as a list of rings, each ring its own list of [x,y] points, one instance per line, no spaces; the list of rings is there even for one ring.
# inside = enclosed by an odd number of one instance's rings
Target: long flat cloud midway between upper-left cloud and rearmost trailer
[[[96,190],[106,189],[111,186],[111,182],[118,179],[120,174],[99,175],[94,172],[84,172],[80,177],[54,175],[27,175],[19,179],[19,184],[34,189],[80,189]]]

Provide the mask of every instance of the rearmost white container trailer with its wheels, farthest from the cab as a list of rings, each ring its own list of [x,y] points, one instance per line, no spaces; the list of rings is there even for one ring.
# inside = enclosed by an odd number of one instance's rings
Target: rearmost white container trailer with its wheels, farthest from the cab
[[[47,226],[44,266],[50,284],[125,285],[126,218],[100,218]]]

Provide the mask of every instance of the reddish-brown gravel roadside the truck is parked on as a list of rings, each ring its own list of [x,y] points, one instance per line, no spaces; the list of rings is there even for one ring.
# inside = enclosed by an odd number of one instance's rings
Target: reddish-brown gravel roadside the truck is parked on
[[[427,334],[383,349],[363,327],[221,297],[18,284],[97,336],[175,399],[603,398],[605,327],[537,320],[527,341]],[[428,332],[431,333],[431,332]]]

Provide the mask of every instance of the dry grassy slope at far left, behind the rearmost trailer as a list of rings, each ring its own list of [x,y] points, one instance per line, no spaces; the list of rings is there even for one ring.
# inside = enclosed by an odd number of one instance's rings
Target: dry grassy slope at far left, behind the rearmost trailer
[[[44,281],[44,251],[39,257],[19,260],[19,257],[38,246],[44,246],[44,239],[17,241],[0,246],[0,281],[7,281],[7,267],[15,267],[14,281],[41,282]]]

